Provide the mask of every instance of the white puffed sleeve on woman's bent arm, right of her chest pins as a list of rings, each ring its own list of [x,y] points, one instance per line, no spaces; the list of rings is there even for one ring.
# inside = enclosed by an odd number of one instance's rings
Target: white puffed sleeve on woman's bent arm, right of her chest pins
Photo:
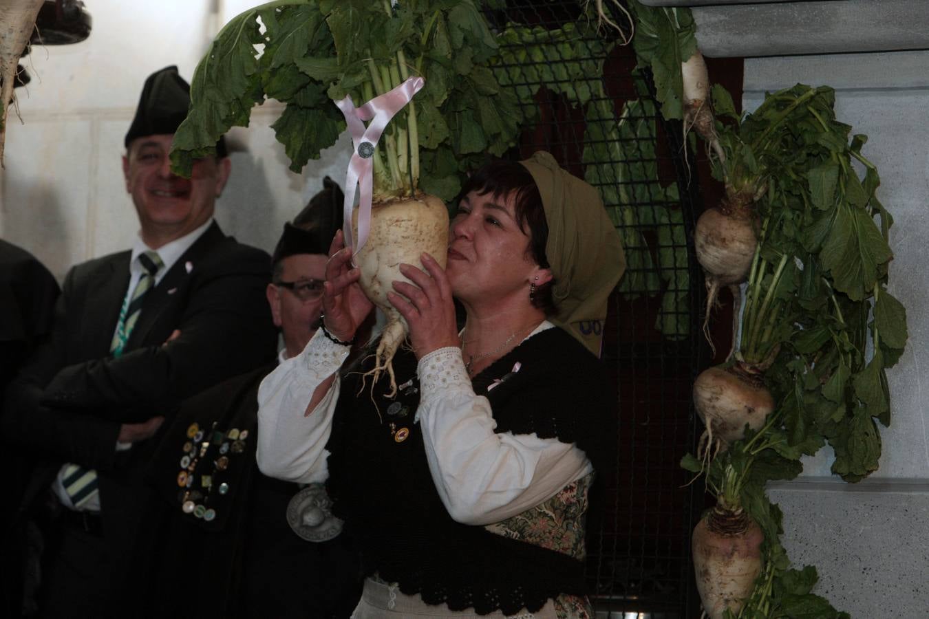
[[[417,371],[417,415],[429,471],[455,521],[503,521],[594,470],[575,445],[534,433],[494,432],[491,403],[474,393],[460,349],[425,355]]]

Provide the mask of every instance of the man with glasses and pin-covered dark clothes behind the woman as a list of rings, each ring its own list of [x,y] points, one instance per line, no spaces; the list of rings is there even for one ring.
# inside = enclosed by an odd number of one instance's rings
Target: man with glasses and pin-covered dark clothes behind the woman
[[[343,194],[328,177],[285,224],[274,251],[268,305],[281,328],[279,359],[299,355],[319,328],[327,251],[342,227]],[[161,561],[151,616],[347,617],[360,566],[320,484],[258,471],[260,368],[181,406],[150,468],[162,496]],[[183,587],[176,589],[178,574]]]

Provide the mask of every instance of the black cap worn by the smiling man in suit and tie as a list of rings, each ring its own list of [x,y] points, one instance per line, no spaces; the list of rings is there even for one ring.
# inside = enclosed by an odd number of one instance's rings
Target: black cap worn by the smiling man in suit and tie
[[[190,84],[177,73],[177,67],[172,65],[155,71],[142,87],[136,117],[125,134],[125,148],[137,137],[175,133],[187,118],[189,108]],[[226,142],[222,137],[216,142],[216,156],[226,156]]]

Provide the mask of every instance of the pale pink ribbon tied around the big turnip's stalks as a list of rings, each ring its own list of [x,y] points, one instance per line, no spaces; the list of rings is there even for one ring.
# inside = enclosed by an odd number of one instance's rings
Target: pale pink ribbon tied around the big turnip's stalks
[[[335,105],[342,110],[346,117],[348,132],[351,134],[355,152],[348,161],[346,173],[345,203],[343,232],[346,245],[352,248],[352,255],[358,253],[368,240],[368,231],[371,228],[371,198],[373,194],[374,168],[373,155],[377,140],[384,133],[387,123],[394,115],[412,101],[413,95],[418,93],[425,84],[421,77],[411,77],[393,90],[374,97],[360,108],[356,108],[347,96]],[[373,120],[372,120],[373,119]],[[367,128],[364,121],[371,121]],[[355,206],[355,187],[360,188],[358,200],[358,239],[352,239],[351,212]],[[358,242],[353,242],[357,240]]]

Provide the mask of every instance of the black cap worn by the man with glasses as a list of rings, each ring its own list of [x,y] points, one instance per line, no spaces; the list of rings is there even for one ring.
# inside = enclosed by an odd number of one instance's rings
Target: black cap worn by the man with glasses
[[[342,227],[344,200],[341,187],[332,178],[322,179],[322,190],[309,199],[293,224],[284,224],[271,263],[278,264],[294,253],[328,253],[335,232]]]

